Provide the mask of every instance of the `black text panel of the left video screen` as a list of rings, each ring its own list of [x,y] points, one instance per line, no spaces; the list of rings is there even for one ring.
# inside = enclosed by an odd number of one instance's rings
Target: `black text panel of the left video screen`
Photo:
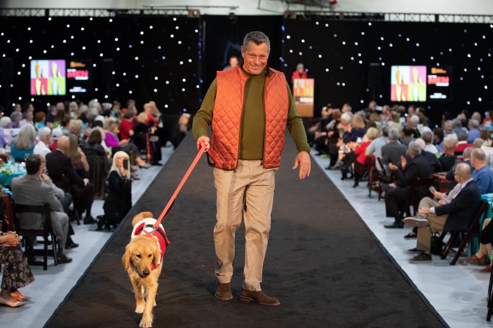
[[[92,61],[67,61],[67,89],[68,93],[92,92]]]

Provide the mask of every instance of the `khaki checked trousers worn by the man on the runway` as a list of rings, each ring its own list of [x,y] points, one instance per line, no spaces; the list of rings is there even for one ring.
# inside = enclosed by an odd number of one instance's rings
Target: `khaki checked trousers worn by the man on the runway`
[[[266,256],[271,229],[274,176],[277,169],[264,169],[260,160],[239,160],[238,170],[214,169],[217,190],[217,223],[214,228],[216,245],[216,278],[221,283],[231,281],[235,259],[235,233],[241,224],[243,196],[247,211],[245,222],[245,267],[243,289],[260,291],[263,260]]]

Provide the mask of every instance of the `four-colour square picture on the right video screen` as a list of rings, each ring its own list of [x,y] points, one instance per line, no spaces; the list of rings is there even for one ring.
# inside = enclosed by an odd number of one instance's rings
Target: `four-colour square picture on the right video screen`
[[[426,101],[426,66],[390,68],[391,101]]]

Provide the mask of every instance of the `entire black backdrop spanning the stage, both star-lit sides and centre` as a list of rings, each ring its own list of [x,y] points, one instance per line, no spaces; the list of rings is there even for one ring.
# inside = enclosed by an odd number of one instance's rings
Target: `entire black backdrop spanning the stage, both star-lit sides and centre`
[[[178,114],[185,109],[193,113],[200,107],[215,71],[226,65],[229,55],[239,55],[238,47],[245,33],[252,30],[270,36],[269,65],[284,70],[288,78],[297,63],[305,64],[309,76],[316,79],[316,113],[329,102],[339,107],[349,101],[355,110],[365,107],[373,93],[368,88],[370,63],[380,64],[381,85],[374,92],[381,105],[390,104],[391,65],[439,63],[454,68],[453,99],[448,103],[422,104],[429,108],[428,113],[435,122],[445,110],[483,112],[491,108],[493,28],[488,24],[371,22],[370,25],[348,20],[292,20],[281,16],[236,16],[232,20],[229,16],[207,15],[201,18],[2,17],[0,55],[2,59],[13,58],[13,69],[12,74],[6,74],[6,65],[3,67],[0,103],[10,107],[14,102],[31,99],[29,56],[90,59],[96,64],[92,70],[94,91],[92,95],[77,95],[82,100],[134,98],[141,108],[145,101],[154,99],[165,113]],[[101,75],[104,58],[113,59],[115,70],[108,99],[104,98],[108,92]],[[32,98],[37,109],[61,100],[54,96]],[[68,99],[69,95],[64,97]]]

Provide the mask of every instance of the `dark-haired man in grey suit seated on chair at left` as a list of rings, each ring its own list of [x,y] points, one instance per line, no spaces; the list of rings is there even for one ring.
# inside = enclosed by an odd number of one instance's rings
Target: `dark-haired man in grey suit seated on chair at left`
[[[42,182],[44,163],[41,157],[30,155],[26,160],[27,174],[12,179],[12,193],[17,204],[44,205],[49,204],[51,210],[51,226],[58,239],[59,263],[68,263],[72,259],[67,257],[63,250],[68,236],[68,215],[60,211],[62,204],[56,199],[50,186]],[[19,224],[22,229],[43,230],[44,217],[35,213],[18,213]]]

